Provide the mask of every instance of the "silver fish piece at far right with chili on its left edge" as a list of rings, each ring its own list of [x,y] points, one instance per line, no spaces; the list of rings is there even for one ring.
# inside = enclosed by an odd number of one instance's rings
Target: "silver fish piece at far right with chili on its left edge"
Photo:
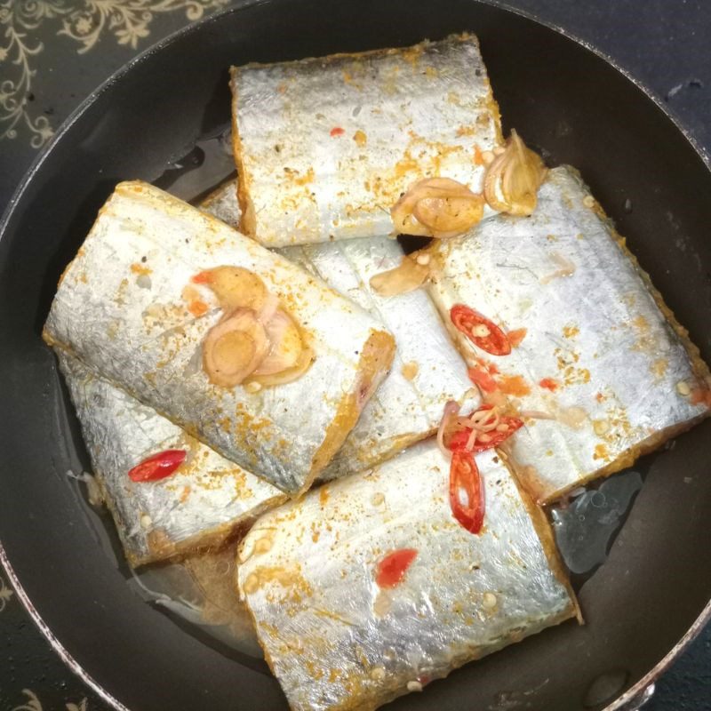
[[[548,173],[536,211],[499,216],[432,247],[429,292],[472,365],[529,419],[505,444],[539,501],[631,465],[708,415],[708,369],[579,174]],[[464,304],[505,331],[510,355],[475,347],[449,318]],[[520,334],[519,334],[520,338]]]

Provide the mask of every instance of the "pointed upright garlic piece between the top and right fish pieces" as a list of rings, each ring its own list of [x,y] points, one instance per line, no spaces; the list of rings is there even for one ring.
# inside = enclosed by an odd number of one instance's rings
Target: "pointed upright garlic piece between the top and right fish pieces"
[[[499,212],[530,215],[536,209],[537,193],[546,177],[542,158],[513,129],[506,149],[486,169],[483,195]]]

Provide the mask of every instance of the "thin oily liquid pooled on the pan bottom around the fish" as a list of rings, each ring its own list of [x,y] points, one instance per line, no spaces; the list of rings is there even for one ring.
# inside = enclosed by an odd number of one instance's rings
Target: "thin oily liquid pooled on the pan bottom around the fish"
[[[228,124],[196,140],[183,155],[173,157],[154,185],[192,204],[199,202],[235,174],[231,132]],[[405,251],[419,244],[405,240]],[[59,378],[59,375],[58,375]],[[64,398],[68,403],[68,398]],[[71,405],[68,404],[71,412]],[[83,449],[76,426],[68,422],[68,443],[74,440]],[[69,446],[69,449],[73,448]],[[69,460],[75,471],[82,464],[72,454]],[[615,536],[627,518],[636,493],[642,488],[645,470],[650,465],[638,463],[634,469],[612,475],[575,492],[574,496],[548,509],[555,539],[564,563],[571,571],[571,581],[577,589],[602,565]],[[88,462],[87,462],[88,463]],[[89,469],[88,466],[84,466]],[[82,478],[77,477],[75,478]],[[92,507],[86,500],[86,489],[79,482],[84,496],[82,505],[95,531],[99,545],[122,571],[126,584],[135,595],[176,620],[189,634],[221,651],[236,654],[248,666],[268,674],[263,654],[252,627],[252,620],[236,594],[236,544],[220,551],[188,557],[180,563],[144,566],[132,571],[124,553],[111,516],[106,509]]]

